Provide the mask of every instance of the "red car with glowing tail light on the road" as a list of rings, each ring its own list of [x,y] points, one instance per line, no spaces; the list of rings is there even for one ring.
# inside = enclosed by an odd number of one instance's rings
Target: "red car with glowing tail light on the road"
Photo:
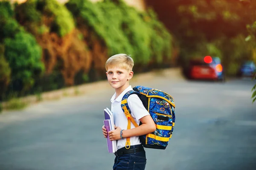
[[[223,66],[218,57],[206,56],[191,60],[187,74],[190,79],[225,81]]]

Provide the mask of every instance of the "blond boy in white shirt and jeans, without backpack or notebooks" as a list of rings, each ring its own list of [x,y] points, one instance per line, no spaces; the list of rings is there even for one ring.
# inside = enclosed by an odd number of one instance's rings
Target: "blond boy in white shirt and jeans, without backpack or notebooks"
[[[133,77],[133,59],[126,54],[113,55],[106,61],[106,75],[108,83],[115,89],[115,94],[111,98],[111,111],[114,116],[115,130],[108,132],[110,140],[116,140],[117,151],[113,170],[145,170],[146,156],[145,150],[140,142],[139,136],[156,130],[153,119],[136,94],[128,97],[128,106],[131,116],[136,123],[142,125],[135,127],[131,123],[131,129],[127,130],[128,120],[122,111],[121,100],[126,92],[132,90],[129,81]],[[107,137],[105,127],[102,127],[103,135]],[[129,149],[125,148],[126,138],[130,138]]]

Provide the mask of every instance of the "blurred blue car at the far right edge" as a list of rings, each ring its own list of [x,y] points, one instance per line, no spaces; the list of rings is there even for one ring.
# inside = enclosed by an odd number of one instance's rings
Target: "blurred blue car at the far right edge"
[[[255,63],[253,61],[246,61],[239,68],[237,75],[239,77],[253,77],[254,72],[256,72]]]

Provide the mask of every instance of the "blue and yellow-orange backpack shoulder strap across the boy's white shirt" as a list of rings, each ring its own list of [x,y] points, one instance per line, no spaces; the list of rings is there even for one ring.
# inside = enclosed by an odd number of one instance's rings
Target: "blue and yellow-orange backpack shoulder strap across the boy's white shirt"
[[[132,118],[132,116],[131,116],[131,110],[130,110],[130,108],[128,106],[128,103],[127,103],[127,98],[132,94],[140,95],[139,92],[136,92],[134,90],[130,90],[129,92],[125,93],[125,95],[123,96],[122,101],[121,101],[121,108],[122,108],[123,112],[125,113],[125,116],[128,120],[127,129],[131,129],[131,122],[132,122],[132,124],[134,124],[135,127],[138,127],[138,124],[136,123],[134,118]],[[126,138],[125,148],[129,149],[130,145],[131,145],[130,144],[130,138]]]

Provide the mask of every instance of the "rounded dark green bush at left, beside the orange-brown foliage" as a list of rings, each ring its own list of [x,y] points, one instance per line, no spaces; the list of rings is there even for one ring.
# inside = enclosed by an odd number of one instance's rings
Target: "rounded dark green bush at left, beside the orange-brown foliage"
[[[41,47],[35,38],[26,32],[4,40],[5,56],[12,68],[12,79],[20,79],[25,89],[34,84],[34,76],[44,70],[41,62]]]

